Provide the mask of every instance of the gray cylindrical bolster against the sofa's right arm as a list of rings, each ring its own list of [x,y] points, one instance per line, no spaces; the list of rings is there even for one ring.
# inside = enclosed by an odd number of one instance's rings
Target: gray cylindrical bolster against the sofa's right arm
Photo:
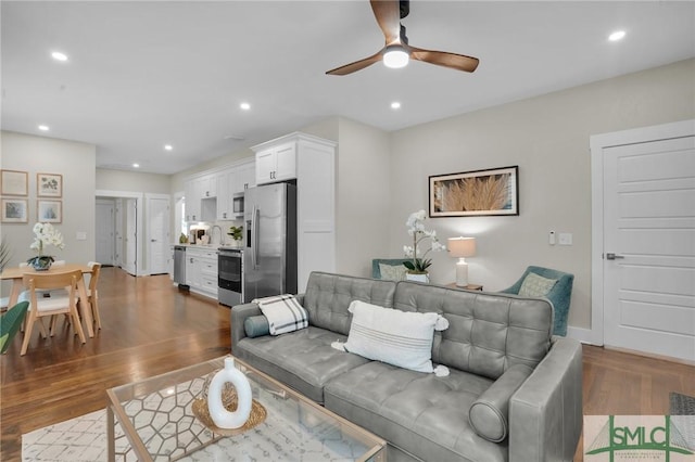
[[[500,442],[507,437],[509,421],[509,399],[533,370],[528,365],[515,364],[507,369],[470,407],[470,426],[481,437]]]

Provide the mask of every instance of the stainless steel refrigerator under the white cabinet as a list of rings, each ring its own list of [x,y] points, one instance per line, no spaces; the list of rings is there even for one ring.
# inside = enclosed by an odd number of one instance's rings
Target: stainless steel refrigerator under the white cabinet
[[[244,194],[243,301],[296,294],[296,187],[250,188]]]

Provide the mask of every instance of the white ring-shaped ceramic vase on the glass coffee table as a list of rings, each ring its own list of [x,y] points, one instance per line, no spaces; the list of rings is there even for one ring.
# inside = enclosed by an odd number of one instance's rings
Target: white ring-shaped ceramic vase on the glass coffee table
[[[229,412],[222,401],[222,392],[229,382],[237,389],[237,410]],[[207,410],[219,428],[239,428],[251,415],[251,385],[247,376],[235,367],[233,358],[225,358],[225,369],[217,372],[207,388]]]

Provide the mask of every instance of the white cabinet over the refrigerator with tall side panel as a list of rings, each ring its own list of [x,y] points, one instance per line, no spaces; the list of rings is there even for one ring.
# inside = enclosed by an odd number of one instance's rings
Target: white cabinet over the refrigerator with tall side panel
[[[298,291],[302,293],[312,271],[336,271],[336,143],[295,132],[252,150],[258,184],[296,179]],[[268,180],[271,171],[274,178]]]

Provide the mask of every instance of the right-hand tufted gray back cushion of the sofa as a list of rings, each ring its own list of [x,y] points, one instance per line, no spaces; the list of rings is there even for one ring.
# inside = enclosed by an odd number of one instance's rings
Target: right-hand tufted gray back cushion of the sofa
[[[435,333],[432,361],[493,380],[513,364],[535,368],[551,347],[546,299],[399,282],[393,307],[444,316],[450,326]]]

